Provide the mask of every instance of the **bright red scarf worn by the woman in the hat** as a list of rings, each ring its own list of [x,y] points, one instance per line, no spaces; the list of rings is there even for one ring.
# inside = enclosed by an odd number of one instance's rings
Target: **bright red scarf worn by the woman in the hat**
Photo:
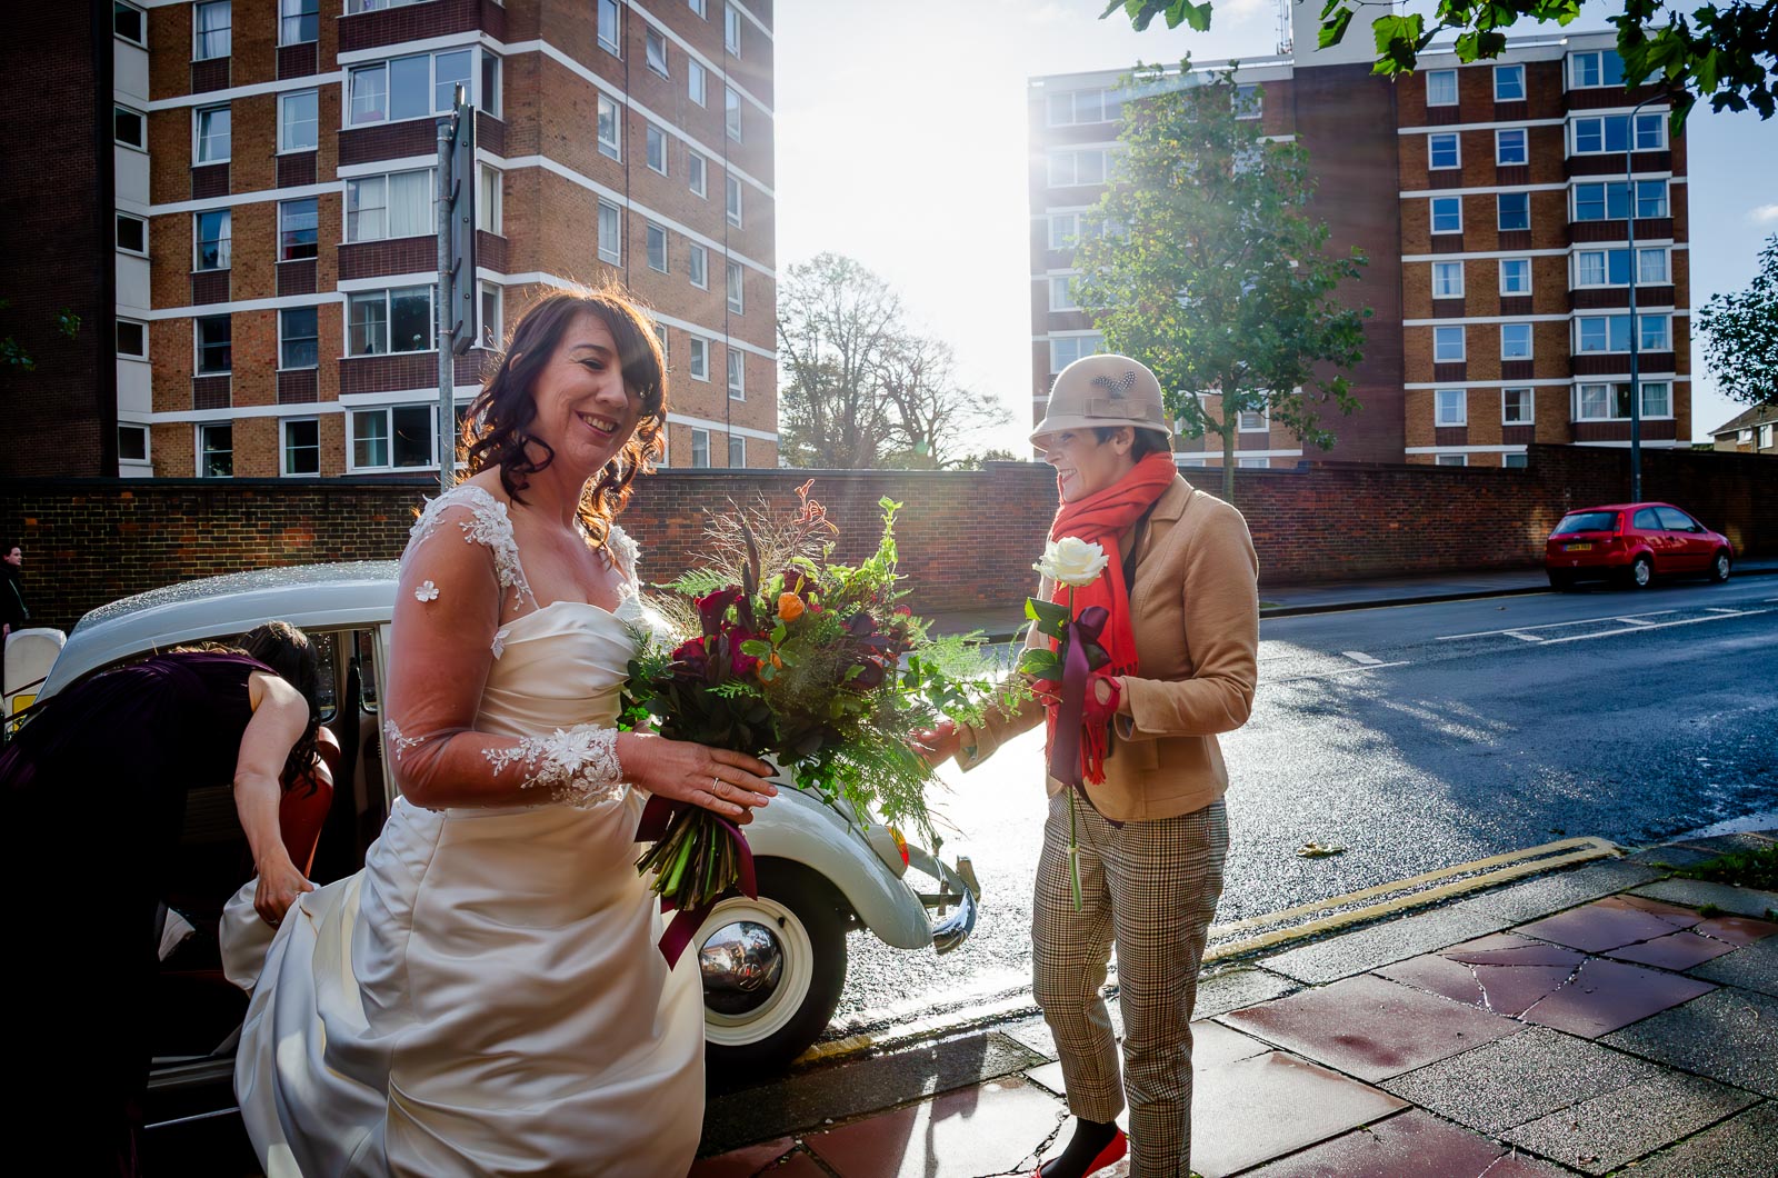
[[[1061,504],[1056,509],[1056,521],[1049,525],[1049,539],[1077,536],[1083,541],[1104,548],[1109,559],[1104,573],[1090,585],[1069,589],[1056,585],[1053,600],[1074,605],[1074,616],[1092,605],[1102,605],[1111,617],[1106,621],[1099,644],[1111,657],[1102,671],[1106,674],[1133,674],[1136,671],[1136,633],[1129,617],[1129,585],[1124,584],[1124,553],[1118,550],[1118,537],[1124,536],[1154,504],[1173,486],[1179,468],[1173,466],[1172,454],[1150,454],[1136,466],[1102,491],[1093,491],[1083,500]],[[1056,489],[1060,495],[1061,482]],[[1056,703],[1049,705],[1049,738],[1056,737]],[[1088,781],[1104,781],[1106,730],[1102,724],[1090,724],[1083,733],[1081,758]]]

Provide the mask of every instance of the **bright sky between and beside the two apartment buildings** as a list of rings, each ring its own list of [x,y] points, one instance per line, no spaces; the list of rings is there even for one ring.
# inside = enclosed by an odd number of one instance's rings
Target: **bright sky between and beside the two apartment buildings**
[[[1419,7],[1419,5],[1415,5]],[[901,292],[914,319],[957,347],[965,381],[1013,425],[1031,413],[1026,80],[1177,62],[1264,57],[1273,0],[1220,0],[1207,34],[1138,34],[1097,20],[1102,0],[777,0],[777,262],[832,249]],[[1607,28],[1588,4],[1572,28]],[[1520,32],[1554,32],[1526,23]],[[1689,123],[1691,303],[1744,288],[1778,233],[1778,119]],[[1714,390],[1693,342],[1693,436],[1744,406]]]

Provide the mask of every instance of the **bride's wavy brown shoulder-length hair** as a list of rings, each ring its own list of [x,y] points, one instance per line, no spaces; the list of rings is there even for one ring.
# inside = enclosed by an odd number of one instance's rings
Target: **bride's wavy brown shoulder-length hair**
[[[500,486],[514,502],[525,502],[521,493],[530,484],[528,477],[555,461],[555,450],[526,429],[537,416],[532,390],[562,345],[562,335],[580,315],[597,315],[610,329],[624,391],[642,402],[637,431],[580,495],[580,521],[592,545],[599,546],[612,532],[612,518],[629,500],[629,484],[637,475],[654,472],[667,429],[667,363],[660,336],[642,304],[617,283],[562,290],[525,311],[493,379],[469,404],[457,454],[469,464],[471,475],[498,466]],[[537,450],[542,457],[533,457]]]

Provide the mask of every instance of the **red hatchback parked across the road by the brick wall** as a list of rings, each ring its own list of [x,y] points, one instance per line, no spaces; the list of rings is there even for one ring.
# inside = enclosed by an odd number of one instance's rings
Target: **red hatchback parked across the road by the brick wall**
[[[1614,504],[1570,511],[1543,545],[1550,587],[1623,578],[1632,589],[1675,573],[1728,580],[1735,548],[1671,504]]]

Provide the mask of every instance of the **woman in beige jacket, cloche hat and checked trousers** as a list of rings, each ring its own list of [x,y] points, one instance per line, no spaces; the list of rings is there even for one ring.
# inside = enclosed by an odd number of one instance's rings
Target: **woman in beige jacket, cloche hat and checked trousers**
[[[1259,561],[1241,512],[1172,470],[1170,438],[1154,374],[1125,356],[1069,365],[1031,434],[1056,468],[1051,539],[1079,534],[1109,557],[1093,589],[1111,609],[1104,641],[1113,655],[1113,673],[1097,673],[1088,689],[1097,705],[1088,714],[1109,717],[1109,733],[1104,779],[1088,772],[1090,804],[1076,804],[1079,909],[1069,797],[1061,781],[1047,781],[1033,989],[1076,1130],[1042,1178],[1081,1178],[1118,1160],[1125,1101],[1129,1173],[1191,1173],[1191,1005],[1229,851],[1229,771],[1216,735],[1245,724],[1253,705]],[[1053,591],[1045,578],[1040,596]],[[1122,658],[1118,633],[1129,644]],[[1031,701],[980,728],[946,722],[919,738],[932,762],[955,756],[974,769],[1044,719],[1045,705]],[[1099,993],[1113,943],[1122,1078]]]

